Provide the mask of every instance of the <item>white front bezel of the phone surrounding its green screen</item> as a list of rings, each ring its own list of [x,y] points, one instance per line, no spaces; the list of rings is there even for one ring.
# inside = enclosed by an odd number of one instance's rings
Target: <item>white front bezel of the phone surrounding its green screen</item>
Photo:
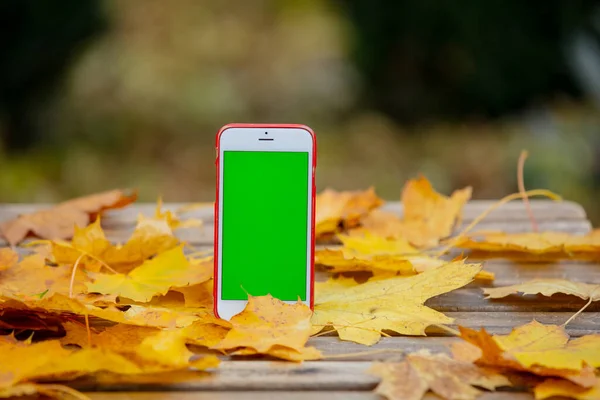
[[[266,133],[265,133],[266,132]],[[273,139],[273,140],[259,140]],[[312,266],[312,196],[313,196],[313,137],[312,134],[302,128],[242,128],[231,127],[221,132],[218,144],[219,154],[219,205],[217,216],[218,227],[218,246],[217,254],[217,286],[216,286],[216,312],[221,319],[229,320],[232,316],[242,312],[248,303],[246,300],[223,300],[221,299],[222,289],[222,230],[223,230],[223,153],[225,151],[298,151],[308,153],[308,163],[306,165],[308,174],[308,213],[307,213],[307,237],[306,237],[306,300],[304,303],[310,306],[311,298],[311,266]],[[295,304],[296,301],[286,301],[288,304]]]

